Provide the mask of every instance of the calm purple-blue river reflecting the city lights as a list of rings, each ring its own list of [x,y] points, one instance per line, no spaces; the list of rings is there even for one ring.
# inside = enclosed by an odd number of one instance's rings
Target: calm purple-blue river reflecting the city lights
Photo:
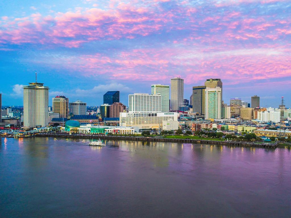
[[[290,148],[0,138],[0,217],[290,217]]]

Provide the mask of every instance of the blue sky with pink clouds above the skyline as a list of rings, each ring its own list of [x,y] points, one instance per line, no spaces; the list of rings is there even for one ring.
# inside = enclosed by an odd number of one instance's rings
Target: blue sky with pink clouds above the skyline
[[[0,93],[22,105],[22,85],[49,86],[87,105],[107,91],[150,93],[152,84],[192,86],[221,78],[223,100],[291,107],[291,1],[0,1]]]

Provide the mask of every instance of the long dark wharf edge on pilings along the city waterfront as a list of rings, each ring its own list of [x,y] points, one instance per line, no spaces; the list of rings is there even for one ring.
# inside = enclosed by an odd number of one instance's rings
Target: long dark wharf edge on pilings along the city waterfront
[[[233,141],[214,141],[203,139],[180,139],[180,138],[158,138],[158,137],[134,137],[134,136],[117,136],[117,135],[69,135],[64,133],[42,133],[37,134],[36,137],[62,137],[62,138],[80,138],[80,139],[106,139],[106,140],[131,140],[144,142],[180,142],[192,144],[216,144],[227,146],[244,146],[244,147],[262,147],[275,149],[278,142],[275,143],[256,143],[256,142],[233,142]]]

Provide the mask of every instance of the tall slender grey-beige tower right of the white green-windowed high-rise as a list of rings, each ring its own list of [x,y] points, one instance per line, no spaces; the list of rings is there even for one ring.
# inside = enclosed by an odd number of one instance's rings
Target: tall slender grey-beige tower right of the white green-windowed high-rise
[[[179,110],[184,100],[184,79],[180,77],[171,79],[171,110]]]

